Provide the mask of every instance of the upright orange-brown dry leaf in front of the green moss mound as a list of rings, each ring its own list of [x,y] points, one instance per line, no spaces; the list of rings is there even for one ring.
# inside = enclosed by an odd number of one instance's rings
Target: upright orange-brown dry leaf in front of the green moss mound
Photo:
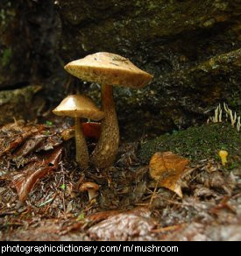
[[[172,152],[154,153],[149,164],[149,173],[159,186],[169,188],[182,197],[180,179],[187,171],[189,160]]]

